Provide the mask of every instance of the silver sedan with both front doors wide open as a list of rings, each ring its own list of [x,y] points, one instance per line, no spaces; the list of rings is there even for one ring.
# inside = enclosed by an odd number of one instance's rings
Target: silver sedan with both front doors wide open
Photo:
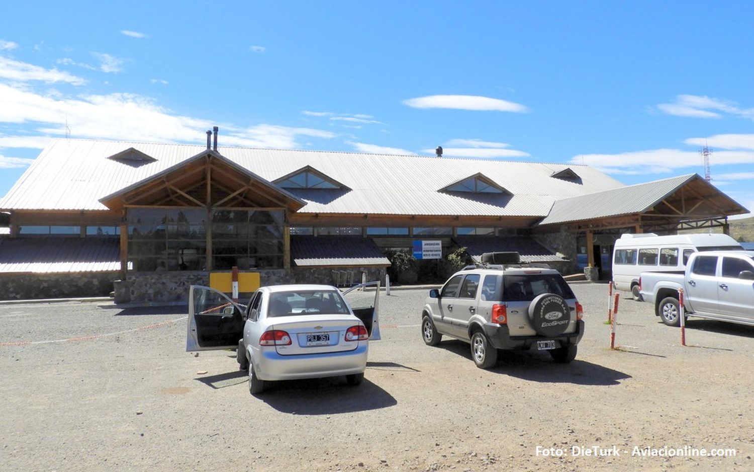
[[[271,381],[345,375],[363,381],[369,339],[379,339],[377,305],[351,308],[330,285],[259,288],[246,306],[222,292],[192,285],[186,350],[237,348],[249,390]]]

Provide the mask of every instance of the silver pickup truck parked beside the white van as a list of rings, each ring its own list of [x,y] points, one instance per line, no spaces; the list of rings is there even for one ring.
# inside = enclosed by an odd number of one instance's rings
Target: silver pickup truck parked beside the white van
[[[639,285],[666,325],[680,324],[679,288],[687,316],[754,325],[754,251],[694,252],[685,271],[642,272]]]

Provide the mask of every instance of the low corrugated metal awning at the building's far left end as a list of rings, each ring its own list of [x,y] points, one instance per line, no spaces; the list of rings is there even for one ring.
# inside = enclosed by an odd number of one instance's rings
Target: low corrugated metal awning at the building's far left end
[[[120,269],[118,239],[0,239],[0,273],[104,272]]]

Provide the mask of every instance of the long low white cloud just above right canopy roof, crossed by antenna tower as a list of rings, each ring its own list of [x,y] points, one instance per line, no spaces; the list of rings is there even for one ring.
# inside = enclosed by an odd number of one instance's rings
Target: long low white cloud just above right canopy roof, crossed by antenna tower
[[[720,151],[714,153],[711,165],[754,163],[754,151]],[[585,154],[574,156],[574,164],[586,164],[606,174],[662,174],[673,169],[691,168],[703,172],[703,164],[696,151],[676,149],[644,150],[619,154]]]

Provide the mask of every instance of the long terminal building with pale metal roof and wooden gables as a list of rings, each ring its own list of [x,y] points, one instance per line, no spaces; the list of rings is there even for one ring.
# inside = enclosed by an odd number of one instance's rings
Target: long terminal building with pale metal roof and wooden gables
[[[519,251],[608,277],[621,233],[746,213],[697,174],[625,186],[584,165],[57,139],[0,211],[0,299],[181,301],[238,267],[262,284],[383,277],[388,251]],[[115,285],[114,285],[115,281]],[[115,287],[115,288],[114,288]]]

